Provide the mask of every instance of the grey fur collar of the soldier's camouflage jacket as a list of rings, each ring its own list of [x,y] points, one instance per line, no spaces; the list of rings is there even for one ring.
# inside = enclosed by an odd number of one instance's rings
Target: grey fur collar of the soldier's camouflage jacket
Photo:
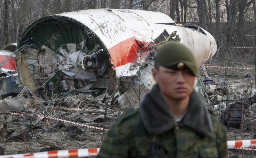
[[[173,114],[160,94],[158,84],[153,86],[140,103],[140,115],[150,134],[162,134],[177,126]],[[213,134],[210,113],[195,90],[190,94],[187,112],[180,123],[201,136],[208,137]]]

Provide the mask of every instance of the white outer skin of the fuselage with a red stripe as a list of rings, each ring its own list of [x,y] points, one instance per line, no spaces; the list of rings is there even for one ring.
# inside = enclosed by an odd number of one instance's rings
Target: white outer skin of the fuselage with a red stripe
[[[130,53],[135,40],[151,42],[164,29],[169,34],[177,31],[180,43],[188,46],[195,54],[198,66],[204,64],[217,50],[216,41],[209,32],[202,28],[195,30],[177,26],[169,16],[161,12],[91,9],[57,15],[74,19],[90,28],[108,49],[112,64],[116,68],[130,62],[125,58]]]

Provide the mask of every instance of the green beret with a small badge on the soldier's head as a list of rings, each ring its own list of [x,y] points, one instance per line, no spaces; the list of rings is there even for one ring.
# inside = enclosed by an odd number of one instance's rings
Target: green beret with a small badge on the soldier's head
[[[192,51],[178,42],[162,44],[156,53],[158,65],[174,70],[188,68],[194,76],[197,76],[196,58]]]

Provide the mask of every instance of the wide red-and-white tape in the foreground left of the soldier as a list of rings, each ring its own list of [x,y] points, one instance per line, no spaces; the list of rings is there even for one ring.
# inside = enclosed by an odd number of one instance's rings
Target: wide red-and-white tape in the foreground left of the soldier
[[[100,148],[58,150],[58,151],[38,152],[34,154],[4,155],[4,156],[0,156],[0,158],[74,158],[74,157],[96,156],[99,151],[100,151]]]

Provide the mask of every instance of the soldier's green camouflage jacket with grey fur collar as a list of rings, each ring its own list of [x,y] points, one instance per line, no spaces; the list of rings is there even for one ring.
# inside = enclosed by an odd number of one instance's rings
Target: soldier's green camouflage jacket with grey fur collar
[[[157,88],[114,121],[97,158],[228,158],[225,128],[196,92],[177,123]]]

